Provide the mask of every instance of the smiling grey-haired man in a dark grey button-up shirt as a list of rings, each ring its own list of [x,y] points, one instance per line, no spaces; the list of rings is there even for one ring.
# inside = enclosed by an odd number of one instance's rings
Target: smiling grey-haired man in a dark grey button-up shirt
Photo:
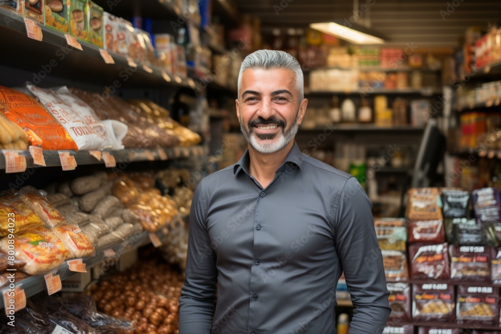
[[[294,57],[245,58],[236,113],[248,150],[195,191],[180,334],[332,334],[343,271],[350,334],[382,332],[389,292],[372,204],[356,178],[299,150],[307,105]]]

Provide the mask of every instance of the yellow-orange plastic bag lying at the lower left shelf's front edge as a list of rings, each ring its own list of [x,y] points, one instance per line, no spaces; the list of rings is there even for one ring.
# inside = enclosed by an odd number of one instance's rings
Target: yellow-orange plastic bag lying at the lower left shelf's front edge
[[[49,240],[57,241],[56,235],[45,227],[40,226],[37,230],[30,229],[18,233],[14,237],[15,257],[19,261],[26,262],[22,269],[30,275],[49,272],[64,263],[65,252],[58,244]],[[9,250],[9,239],[5,237],[0,240],[0,250]]]

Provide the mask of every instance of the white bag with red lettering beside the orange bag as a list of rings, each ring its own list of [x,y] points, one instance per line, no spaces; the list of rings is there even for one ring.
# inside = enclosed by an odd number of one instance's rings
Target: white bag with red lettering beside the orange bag
[[[83,111],[82,108],[73,110],[72,105],[65,103],[59,94],[51,89],[38,88],[32,85],[26,87],[68,131],[79,150],[92,150],[103,146],[103,142],[107,137],[106,130],[90,112],[85,113],[84,111],[83,114],[80,114],[79,112]],[[64,88],[66,87],[62,88],[63,91]]]

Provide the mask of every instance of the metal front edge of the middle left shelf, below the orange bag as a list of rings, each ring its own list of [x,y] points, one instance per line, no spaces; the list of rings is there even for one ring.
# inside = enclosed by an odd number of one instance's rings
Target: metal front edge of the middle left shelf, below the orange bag
[[[110,153],[116,161],[117,166],[120,163],[130,163],[138,161],[162,161],[168,159],[184,159],[189,157],[202,157],[205,156],[205,149],[202,146],[186,146],[186,147],[170,147],[170,148],[152,148],[152,149],[123,149],[119,151],[103,151]],[[162,153],[163,151],[163,153]],[[4,153],[6,150],[0,150],[0,169],[6,169],[6,160]],[[27,168],[42,167],[33,164],[33,158],[30,151],[16,151],[26,159]],[[104,159],[98,160],[95,156],[91,155],[92,151],[65,151],[75,157],[78,165],[96,165],[104,164]],[[58,151],[43,151],[44,159],[47,167],[61,166]],[[165,154],[165,155],[164,155]],[[167,159],[166,159],[167,157]]]

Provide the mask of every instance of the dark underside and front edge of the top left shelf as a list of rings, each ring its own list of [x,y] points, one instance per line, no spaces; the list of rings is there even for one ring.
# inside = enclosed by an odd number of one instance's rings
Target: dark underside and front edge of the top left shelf
[[[42,42],[28,38],[24,18],[0,8],[0,43],[9,52],[0,53],[0,64],[30,71],[27,81],[44,86],[47,76],[69,81],[120,87],[194,87],[191,79],[169,74],[160,68],[109,52],[115,64],[106,64],[100,48],[79,41],[83,51],[68,46],[65,34],[42,24]],[[31,56],[29,56],[31,55]],[[27,61],[31,57],[33,61]]]

